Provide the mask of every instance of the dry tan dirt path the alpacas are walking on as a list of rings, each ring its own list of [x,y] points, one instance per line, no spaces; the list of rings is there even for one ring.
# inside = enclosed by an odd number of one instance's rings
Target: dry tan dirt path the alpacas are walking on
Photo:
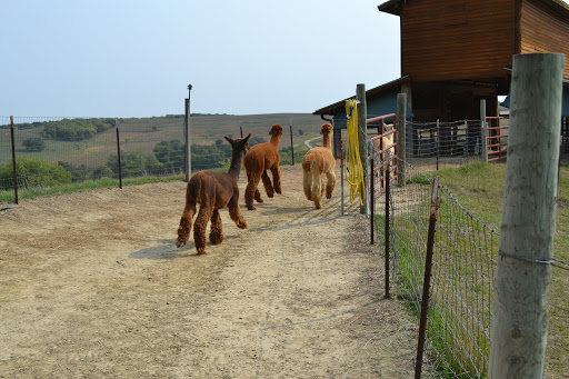
[[[339,216],[339,187],[315,209],[300,166],[282,173],[282,196],[241,201],[250,229],[221,212],[207,256],[174,247],[183,182],[0,212],[0,378],[412,377],[366,219]]]

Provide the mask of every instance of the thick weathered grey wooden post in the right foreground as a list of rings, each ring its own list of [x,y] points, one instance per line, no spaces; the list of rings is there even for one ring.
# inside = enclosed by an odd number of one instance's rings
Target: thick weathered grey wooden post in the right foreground
[[[556,229],[565,56],[513,56],[490,379],[541,378]]]

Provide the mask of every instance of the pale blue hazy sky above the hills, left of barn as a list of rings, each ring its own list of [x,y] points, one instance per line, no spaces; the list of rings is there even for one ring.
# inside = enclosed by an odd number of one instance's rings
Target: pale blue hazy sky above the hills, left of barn
[[[399,77],[380,3],[2,1],[0,116],[312,112]]]

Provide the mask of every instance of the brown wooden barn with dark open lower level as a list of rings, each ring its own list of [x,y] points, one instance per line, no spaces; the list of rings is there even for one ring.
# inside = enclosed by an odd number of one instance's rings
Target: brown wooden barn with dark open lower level
[[[380,12],[400,18],[401,78],[367,91],[368,113],[395,111],[407,93],[416,121],[498,114],[510,89],[512,56],[562,52],[563,116],[569,117],[569,4],[561,0],[390,0]],[[391,107],[391,108],[390,108]],[[343,100],[315,114],[345,127]],[[343,122],[342,122],[343,121]],[[567,119],[566,119],[567,122]]]

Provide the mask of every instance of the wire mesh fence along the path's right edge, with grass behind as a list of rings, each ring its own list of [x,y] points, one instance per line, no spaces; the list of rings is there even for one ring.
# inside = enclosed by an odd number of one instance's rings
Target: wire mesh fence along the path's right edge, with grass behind
[[[383,241],[389,217],[387,230],[395,291],[419,318],[432,178],[398,160],[399,166],[405,166],[405,186],[393,181],[389,195],[382,191],[373,197],[370,209],[375,210],[375,232]],[[389,196],[389,213],[386,213],[386,196]],[[486,378],[500,231],[462,207],[443,186],[439,198],[422,363],[435,377]],[[555,267],[558,272],[553,273],[567,275],[569,265],[557,259]],[[568,303],[550,301],[549,311],[548,352],[555,351],[556,360],[569,361],[567,338],[560,337],[567,330]]]

